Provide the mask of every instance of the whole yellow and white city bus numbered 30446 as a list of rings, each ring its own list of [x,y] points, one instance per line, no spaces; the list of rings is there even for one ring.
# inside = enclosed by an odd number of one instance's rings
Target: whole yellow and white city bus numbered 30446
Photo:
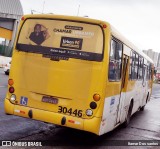
[[[144,109],[152,76],[152,60],[107,22],[26,15],[5,112],[102,135]]]

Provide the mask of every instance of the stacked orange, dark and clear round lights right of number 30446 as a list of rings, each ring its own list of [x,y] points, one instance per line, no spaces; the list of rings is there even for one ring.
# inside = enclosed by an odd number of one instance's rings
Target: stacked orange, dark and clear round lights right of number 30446
[[[91,109],[87,109],[86,110],[86,115],[87,116],[92,116],[93,115],[93,110],[97,108],[97,102],[101,99],[101,96],[99,94],[94,94],[93,95],[93,100],[91,103],[90,103],[90,108]]]

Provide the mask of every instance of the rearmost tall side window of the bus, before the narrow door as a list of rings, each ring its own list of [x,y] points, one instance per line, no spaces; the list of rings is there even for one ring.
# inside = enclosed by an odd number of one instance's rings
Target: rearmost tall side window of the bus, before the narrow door
[[[110,81],[118,81],[121,78],[122,66],[122,43],[111,40],[109,72],[108,78]]]

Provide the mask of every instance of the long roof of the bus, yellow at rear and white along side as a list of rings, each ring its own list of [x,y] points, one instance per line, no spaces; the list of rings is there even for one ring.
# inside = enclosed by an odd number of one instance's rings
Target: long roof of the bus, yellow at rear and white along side
[[[153,63],[153,60],[149,58],[146,54],[144,54],[141,50],[139,50],[136,46],[134,46],[130,41],[128,41],[120,32],[118,32],[110,23],[102,20],[91,19],[88,17],[79,17],[79,16],[64,16],[64,15],[54,15],[54,14],[32,14],[32,15],[25,15],[24,18],[53,18],[53,19],[64,19],[64,20],[75,20],[75,21],[82,21],[88,23],[95,23],[95,24],[106,24],[108,27],[111,28],[111,33],[113,36],[118,38],[122,41],[125,45],[130,47],[132,50],[139,53],[142,57],[144,57],[150,63]]]

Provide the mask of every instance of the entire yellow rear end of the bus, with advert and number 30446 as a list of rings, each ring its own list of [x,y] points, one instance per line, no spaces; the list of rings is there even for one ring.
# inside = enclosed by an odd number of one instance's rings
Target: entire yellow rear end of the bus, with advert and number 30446
[[[99,134],[106,30],[102,22],[87,18],[24,16],[5,112]]]

